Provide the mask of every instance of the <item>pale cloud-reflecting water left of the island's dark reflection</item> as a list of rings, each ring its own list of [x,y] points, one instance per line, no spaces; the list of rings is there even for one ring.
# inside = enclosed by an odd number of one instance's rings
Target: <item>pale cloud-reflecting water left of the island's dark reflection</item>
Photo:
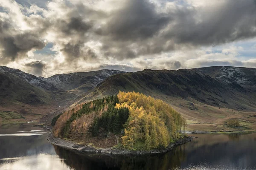
[[[31,124],[0,125],[0,170],[69,170],[47,133]]]

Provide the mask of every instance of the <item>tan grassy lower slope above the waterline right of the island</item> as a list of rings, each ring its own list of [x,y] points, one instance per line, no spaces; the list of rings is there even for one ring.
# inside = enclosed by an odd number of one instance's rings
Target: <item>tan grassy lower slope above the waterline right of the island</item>
[[[218,108],[191,99],[193,109],[187,106],[187,100],[171,100],[169,103],[186,118],[186,130],[205,132],[253,132],[256,129],[256,113]],[[182,107],[182,106],[183,107]],[[230,119],[238,119],[240,127],[231,128],[225,125]]]

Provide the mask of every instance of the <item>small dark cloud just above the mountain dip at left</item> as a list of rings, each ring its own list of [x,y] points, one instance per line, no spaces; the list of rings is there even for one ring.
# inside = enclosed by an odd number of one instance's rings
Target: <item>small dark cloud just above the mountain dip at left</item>
[[[29,73],[35,76],[42,76],[46,65],[42,61],[33,61],[26,63],[25,66],[27,67]]]

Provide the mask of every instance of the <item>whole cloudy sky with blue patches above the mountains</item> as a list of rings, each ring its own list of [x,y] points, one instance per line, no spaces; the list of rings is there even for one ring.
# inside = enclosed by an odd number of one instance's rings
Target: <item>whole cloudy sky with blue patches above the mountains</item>
[[[0,65],[43,77],[256,68],[256,0],[0,0]]]

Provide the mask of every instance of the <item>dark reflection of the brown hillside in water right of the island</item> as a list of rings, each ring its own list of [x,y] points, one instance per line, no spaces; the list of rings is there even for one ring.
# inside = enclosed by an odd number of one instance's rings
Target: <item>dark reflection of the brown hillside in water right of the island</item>
[[[198,134],[198,139],[185,144],[188,153],[184,167],[189,164],[209,164],[240,170],[256,168],[256,134]],[[214,169],[214,168],[209,168]]]

